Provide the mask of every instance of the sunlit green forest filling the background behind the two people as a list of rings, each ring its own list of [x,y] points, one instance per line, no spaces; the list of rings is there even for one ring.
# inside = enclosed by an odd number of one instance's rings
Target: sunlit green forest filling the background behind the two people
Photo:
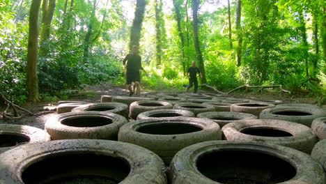
[[[147,89],[201,84],[309,89],[326,96],[323,0],[3,0],[0,91],[22,103],[64,98],[81,84],[125,84],[139,45]]]

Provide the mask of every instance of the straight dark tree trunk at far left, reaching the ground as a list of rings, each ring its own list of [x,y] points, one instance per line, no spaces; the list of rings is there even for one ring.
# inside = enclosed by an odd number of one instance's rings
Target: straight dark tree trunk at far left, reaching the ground
[[[38,93],[38,13],[41,0],[33,0],[29,12],[29,45],[27,51],[27,100],[37,102],[40,100]]]

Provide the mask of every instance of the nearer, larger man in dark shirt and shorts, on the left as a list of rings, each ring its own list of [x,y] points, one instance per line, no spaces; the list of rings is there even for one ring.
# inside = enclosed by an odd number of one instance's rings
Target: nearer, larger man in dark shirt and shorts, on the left
[[[126,62],[127,61],[127,62]],[[138,55],[138,46],[132,46],[132,53],[127,54],[123,59],[123,66],[125,66],[128,89],[130,96],[134,94],[134,89],[137,89],[137,95],[140,94],[140,72],[143,70],[141,67],[141,56]],[[143,70],[145,72],[145,70]],[[146,73],[146,72],[145,72]],[[134,88],[132,88],[134,86]]]

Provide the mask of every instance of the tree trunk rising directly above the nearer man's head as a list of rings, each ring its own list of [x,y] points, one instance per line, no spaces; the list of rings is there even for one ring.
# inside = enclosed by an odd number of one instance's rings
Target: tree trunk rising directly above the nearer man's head
[[[137,0],[136,10],[134,11],[134,21],[130,33],[129,49],[132,45],[139,45],[141,37],[141,23],[143,22],[143,15],[145,13],[146,0]]]

